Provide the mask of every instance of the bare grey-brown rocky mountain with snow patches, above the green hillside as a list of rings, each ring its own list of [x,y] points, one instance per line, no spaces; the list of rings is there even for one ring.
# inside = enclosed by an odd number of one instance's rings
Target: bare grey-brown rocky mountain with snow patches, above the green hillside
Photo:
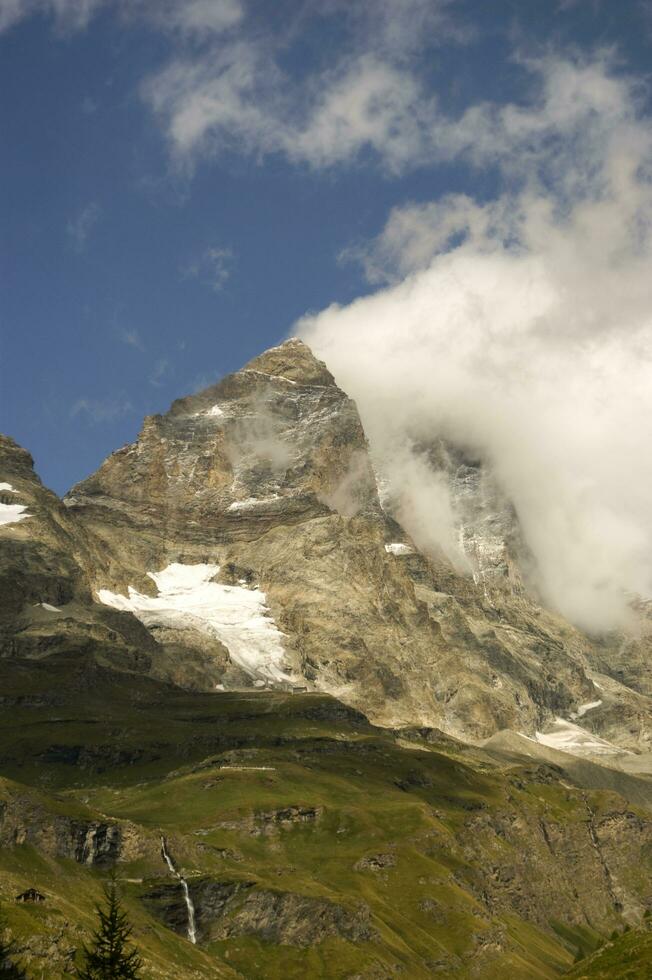
[[[305,686],[472,740],[574,718],[648,748],[643,613],[637,636],[596,641],[542,608],[509,501],[436,436],[424,451],[451,486],[464,557],[419,553],[381,503],[355,404],[301,341],[146,419],[65,508],[2,447],[0,481],[33,513],[0,528],[5,651],[42,655],[74,634],[188,688]]]

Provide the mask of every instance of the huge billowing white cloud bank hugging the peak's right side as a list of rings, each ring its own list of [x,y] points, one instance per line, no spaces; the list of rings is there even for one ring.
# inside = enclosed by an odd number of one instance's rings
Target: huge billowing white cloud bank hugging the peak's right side
[[[529,106],[447,133],[506,190],[394,211],[353,250],[384,287],[295,332],[357,400],[423,547],[453,541],[415,449],[441,433],[493,464],[547,601],[600,630],[652,594],[652,129],[607,59],[531,68]]]

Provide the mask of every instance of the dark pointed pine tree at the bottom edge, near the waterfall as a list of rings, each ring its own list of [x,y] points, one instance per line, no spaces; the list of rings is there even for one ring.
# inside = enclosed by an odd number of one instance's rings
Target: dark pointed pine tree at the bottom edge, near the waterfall
[[[77,976],[79,980],[138,980],[142,961],[129,945],[131,926],[113,876],[104,888],[104,899],[104,907],[97,906],[99,926],[91,945],[84,946],[84,965]]]

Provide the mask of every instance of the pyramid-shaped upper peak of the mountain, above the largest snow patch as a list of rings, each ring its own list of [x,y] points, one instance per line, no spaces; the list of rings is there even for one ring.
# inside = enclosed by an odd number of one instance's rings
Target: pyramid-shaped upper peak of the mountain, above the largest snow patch
[[[106,538],[123,585],[131,561],[142,576],[338,505],[380,517],[355,405],[300,341],[147,418],[66,503]]]

